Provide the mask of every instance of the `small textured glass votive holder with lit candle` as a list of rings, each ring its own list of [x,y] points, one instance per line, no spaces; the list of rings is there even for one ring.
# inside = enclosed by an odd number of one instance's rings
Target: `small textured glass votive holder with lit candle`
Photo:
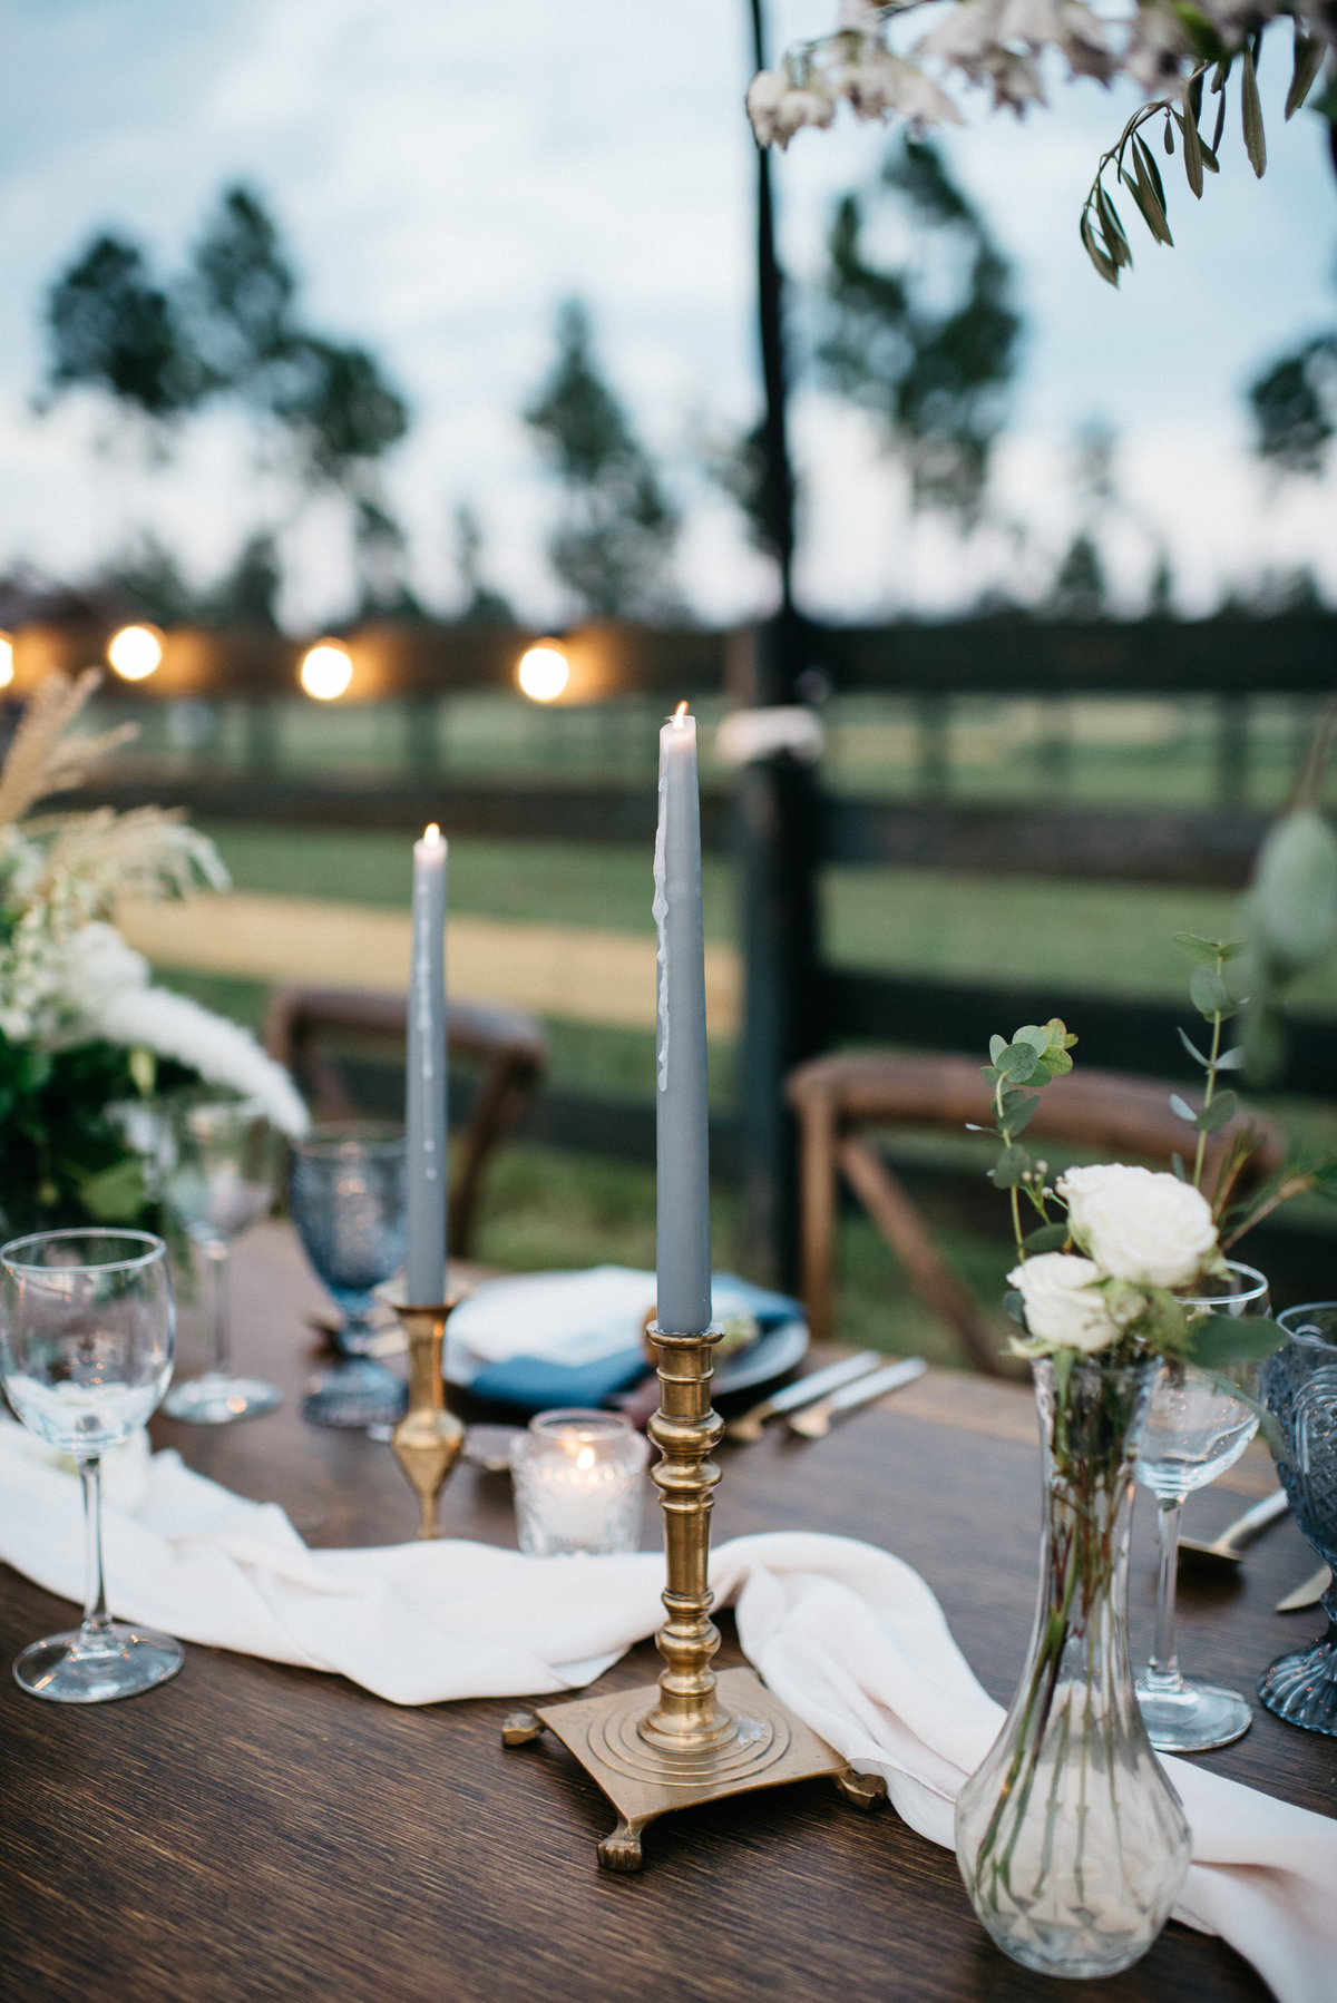
[[[635,1550],[647,1460],[649,1442],[619,1412],[539,1412],[511,1440],[519,1548]]]

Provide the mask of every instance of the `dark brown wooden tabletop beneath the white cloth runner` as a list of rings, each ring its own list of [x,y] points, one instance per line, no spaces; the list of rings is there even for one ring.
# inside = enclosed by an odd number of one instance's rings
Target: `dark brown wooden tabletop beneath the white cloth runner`
[[[237,1260],[247,1366],[279,1378],[281,1412],[158,1444],[229,1486],[281,1502],[313,1544],[407,1538],[389,1450],[303,1426],[303,1314],[323,1306],[281,1226]],[[772,1430],[726,1450],[718,1536],[816,1528],[916,1564],[962,1648],[1008,1699],[1030,1630],[1038,1488],[1028,1394],[930,1376],[808,1444]],[[1241,1490],[1197,1498],[1221,1528]],[[513,1542],[509,1482],[461,1468],[455,1534]],[[647,1522],[647,1542],[657,1524]],[[1137,1530],[1135,1642],[1151,1616],[1151,1530]],[[1313,1568],[1287,1522],[1239,1588],[1183,1594],[1183,1654],[1253,1691],[1265,1662],[1317,1630],[1273,1602]],[[66,1626],[68,1604],[4,1572],[0,1654]],[[726,1620],[724,1660],[738,1660]],[[607,1689],[647,1683],[649,1644]],[[641,1877],[605,1877],[607,1807],[551,1741],[503,1751],[501,1701],[397,1711],[337,1677],[188,1648],[166,1689],[88,1711],[0,1679],[0,1993],[6,2003],[882,2003],[882,1999],[1263,1997],[1219,1941],[1169,1927],[1133,1971],[1056,1985],[1004,1961],[966,1905],[950,1853],[890,1811],[860,1815],[826,1783],[762,1793],[651,1829]],[[1261,1709],[1207,1755],[1223,1773],[1337,1813],[1337,1745]]]

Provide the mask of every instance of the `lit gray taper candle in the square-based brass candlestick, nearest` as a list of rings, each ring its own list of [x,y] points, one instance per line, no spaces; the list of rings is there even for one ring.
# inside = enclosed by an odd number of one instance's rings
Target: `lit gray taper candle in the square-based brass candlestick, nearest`
[[[680,703],[659,731],[655,835],[657,1316],[694,1336],[710,1326],[710,1140],[706,1124],[706,931],[696,717]]]

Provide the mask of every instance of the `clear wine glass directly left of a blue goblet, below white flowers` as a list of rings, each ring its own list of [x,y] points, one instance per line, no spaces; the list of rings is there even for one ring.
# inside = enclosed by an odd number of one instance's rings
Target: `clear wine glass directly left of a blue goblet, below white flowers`
[[[164,1104],[162,1196],[202,1254],[210,1364],[202,1376],[172,1384],[162,1410],[194,1426],[227,1426],[273,1412],[283,1398],[277,1384],[237,1376],[229,1322],[233,1240],[275,1200],[275,1130],[257,1100],[180,1094]]]

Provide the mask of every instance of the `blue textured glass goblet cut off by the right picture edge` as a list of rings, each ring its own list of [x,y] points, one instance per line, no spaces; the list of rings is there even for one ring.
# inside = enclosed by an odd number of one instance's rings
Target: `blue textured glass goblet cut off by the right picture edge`
[[[1263,1402],[1281,1426],[1287,1460],[1277,1468],[1291,1514],[1337,1580],[1337,1300],[1287,1308],[1291,1336],[1259,1372]],[[1327,1634],[1279,1654],[1259,1683],[1269,1711],[1307,1733],[1337,1739],[1337,1582],[1323,1594]]]

